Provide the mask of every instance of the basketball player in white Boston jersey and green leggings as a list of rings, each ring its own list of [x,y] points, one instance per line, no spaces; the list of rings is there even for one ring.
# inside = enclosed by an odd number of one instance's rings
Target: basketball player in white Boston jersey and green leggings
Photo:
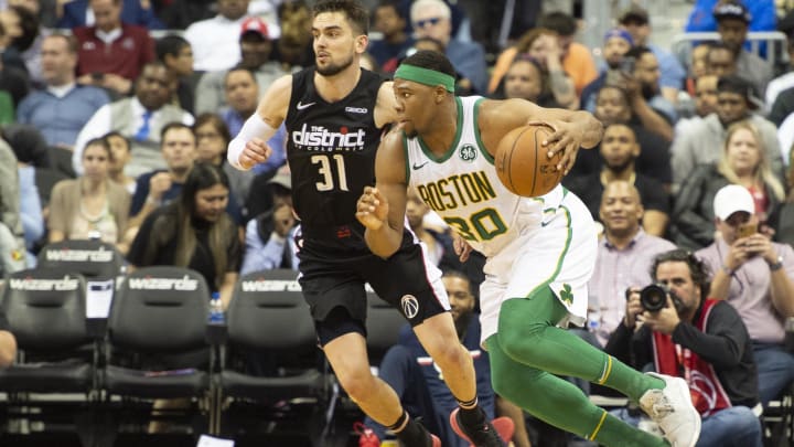
[[[395,73],[394,91],[401,129],[382,141],[376,185],[365,188],[356,213],[373,253],[388,258],[399,246],[406,190],[416,188],[487,257],[480,292],[482,342],[496,393],[601,445],[694,446],[700,416],[683,379],[642,374],[560,328],[581,326],[587,318],[596,230],[584,204],[560,185],[544,196],[518,196],[493,167],[504,135],[543,121],[555,129],[546,148],[564,152],[557,169],[567,172],[580,146],[599,142],[601,124],[586,111],[546,109],[523,99],[455,97],[454,68],[433,52],[407,57]],[[619,390],[658,423],[667,440],[609,415],[558,375]],[[453,428],[457,418],[453,412]]]

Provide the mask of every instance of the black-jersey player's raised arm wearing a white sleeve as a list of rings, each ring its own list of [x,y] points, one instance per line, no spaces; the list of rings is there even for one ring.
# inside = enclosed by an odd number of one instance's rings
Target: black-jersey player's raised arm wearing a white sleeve
[[[272,150],[267,141],[283,123],[292,94],[292,75],[281,76],[259,102],[257,110],[248,117],[239,134],[229,142],[226,158],[233,167],[247,171],[264,163]]]

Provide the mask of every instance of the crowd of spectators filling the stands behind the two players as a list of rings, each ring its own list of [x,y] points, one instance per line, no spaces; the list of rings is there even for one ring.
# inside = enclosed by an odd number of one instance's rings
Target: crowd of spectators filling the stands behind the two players
[[[794,318],[794,65],[745,44],[749,31],[777,29],[794,56],[794,15],[772,0],[698,0],[686,30],[719,39],[678,54],[654,43],[639,7],[614,17],[596,51],[577,42],[581,21],[568,12],[536,17],[539,1],[515,2],[524,15],[506,44],[482,32],[479,2],[365,3],[371,70],[388,76],[430,49],[453,63],[460,95],[587,109],[604,124],[602,142],[564,180],[601,223],[588,328],[601,345],[625,321],[626,291],[654,280],[654,256],[677,246],[705,262],[713,283],[702,298],[733,305],[747,326],[757,401],[780,395],[794,379],[779,371],[794,371],[782,348]],[[312,64],[310,7],[0,1],[2,273],[35,266],[43,245],[68,238],[112,243],[131,265],[195,267],[224,302],[238,273],[297,269],[285,129],[249,172],[228,166],[225,150],[275,79]],[[482,19],[504,25],[491,15]],[[720,214],[727,185],[752,198],[740,217]],[[409,198],[408,214],[433,260],[478,272],[455,259],[449,228],[420,200]],[[747,221],[755,231],[738,234]],[[155,225],[169,231],[153,237]],[[184,228],[192,240],[176,237]],[[749,242],[754,252],[740,248]]]

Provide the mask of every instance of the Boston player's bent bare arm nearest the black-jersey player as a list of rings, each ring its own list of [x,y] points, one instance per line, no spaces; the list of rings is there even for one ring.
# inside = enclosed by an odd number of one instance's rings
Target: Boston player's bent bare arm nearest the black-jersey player
[[[375,188],[366,187],[358,199],[356,219],[366,227],[369,249],[383,258],[391,256],[403,241],[406,212],[405,155],[403,131],[384,137],[375,159]]]

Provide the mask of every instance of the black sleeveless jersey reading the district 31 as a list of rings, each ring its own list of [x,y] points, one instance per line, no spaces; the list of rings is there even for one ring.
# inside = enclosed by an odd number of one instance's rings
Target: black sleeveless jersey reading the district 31
[[[345,98],[328,103],[314,87],[314,67],[292,75],[292,96],[285,125],[292,200],[304,232],[341,225],[360,226],[356,202],[375,184],[377,93],[385,79],[362,70]]]

